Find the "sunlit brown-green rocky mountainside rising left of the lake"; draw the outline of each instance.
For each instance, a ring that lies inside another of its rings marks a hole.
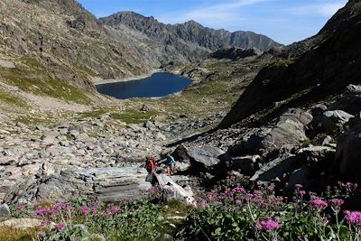
[[[91,77],[141,74],[158,64],[74,0],[1,0],[0,16],[3,59],[31,59],[45,75],[83,88],[91,88]]]

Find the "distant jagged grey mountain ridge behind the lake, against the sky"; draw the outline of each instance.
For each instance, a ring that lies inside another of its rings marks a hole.
[[[127,27],[144,33],[154,46],[158,56],[168,55],[169,60],[195,61],[212,51],[230,46],[239,48],[257,48],[267,51],[280,46],[270,38],[255,32],[227,32],[203,27],[189,21],[182,24],[164,24],[153,17],[144,17],[133,12],[119,12],[100,19],[102,23],[122,31]]]

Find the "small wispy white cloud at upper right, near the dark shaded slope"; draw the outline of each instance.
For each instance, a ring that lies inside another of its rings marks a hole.
[[[319,4],[310,4],[310,5],[300,5],[296,7],[289,8],[287,10],[288,14],[295,15],[320,15],[325,17],[330,17],[333,14],[338,12],[338,9],[343,7],[347,3],[347,0],[337,0],[327,3]]]

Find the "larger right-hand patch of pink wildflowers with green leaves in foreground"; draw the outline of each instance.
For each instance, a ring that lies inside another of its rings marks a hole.
[[[277,196],[273,184],[246,190],[241,184],[217,186],[202,199],[180,227],[180,239],[355,240],[361,234],[361,212],[340,211],[356,185],[342,184],[324,195],[293,187],[293,197]],[[211,221],[209,221],[211,220]],[[190,236],[191,234],[191,236]]]

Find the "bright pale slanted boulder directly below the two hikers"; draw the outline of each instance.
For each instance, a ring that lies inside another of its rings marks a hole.
[[[188,188],[188,190],[183,189],[171,180],[171,177],[164,174],[155,174],[158,184],[162,188],[162,200],[170,201],[171,199],[178,199],[185,204],[196,207],[197,202],[193,197],[193,192]]]

